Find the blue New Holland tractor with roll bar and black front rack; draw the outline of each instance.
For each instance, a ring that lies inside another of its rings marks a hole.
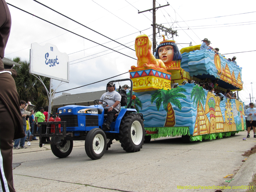
[[[102,129],[107,117],[104,115],[107,102],[94,100],[95,105],[91,106],[67,105],[58,109],[61,121],[36,123],[41,124],[40,134],[34,133],[40,138],[39,146],[51,144],[52,153],[59,158],[67,157],[71,153],[73,140],[85,140],[85,151],[91,159],[100,159],[114,139],[119,140],[127,152],[140,151],[145,137],[143,115],[137,113],[131,105],[132,98],[135,97],[132,96],[132,80],[120,79],[110,82],[121,81],[131,81],[131,99],[126,108],[119,107],[119,112],[110,124],[110,131]],[[50,137],[51,141],[46,141],[47,137]]]

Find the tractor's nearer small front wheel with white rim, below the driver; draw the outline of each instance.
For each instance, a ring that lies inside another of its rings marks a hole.
[[[107,138],[100,128],[93,128],[86,136],[84,148],[85,152],[92,160],[100,159],[107,147]]]

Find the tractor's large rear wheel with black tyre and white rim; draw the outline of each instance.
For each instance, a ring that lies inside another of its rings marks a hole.
[[[126,152],[140,151],[145,140],[145,129],[139,114],[130,113],[122,118],[118,137]]]

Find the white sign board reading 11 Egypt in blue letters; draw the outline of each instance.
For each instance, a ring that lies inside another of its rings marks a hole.
[[[60,81],[69,82],[68,54],[59,52],[52,44],[44,46],[32,43],[30,49],[29,72]]]

